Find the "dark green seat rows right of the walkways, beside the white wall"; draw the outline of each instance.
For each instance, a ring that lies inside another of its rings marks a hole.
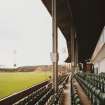
[[[95,74],[77,73],[75,78],[80,83],[86,94],[90,98],[92,105],[105,105],[105,92],[98,87],[100,85],[101,78],[96,78]],[[97,82],[97,83],[96,83]],[[98,84],[98,85],[96,85]],[[105,88],[105,87],[104,87]]]

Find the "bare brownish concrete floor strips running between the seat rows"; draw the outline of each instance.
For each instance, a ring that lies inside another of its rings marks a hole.
[[[82,105],[92,105],[91,101],[89,100],[79,83],[76,81],[76,79],[73,79],[73,83],[77,87],[78,95],[80,97]],[[64,105],[71,105],[71,74],[69,81],[66,84],[66,88],[64,89]]]

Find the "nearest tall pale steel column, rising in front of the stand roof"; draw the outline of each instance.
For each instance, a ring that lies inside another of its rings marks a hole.
[[[52,0],[52,62],[53,62],[53,88],[58,90],[58,33],[56,21],[56,0]]]

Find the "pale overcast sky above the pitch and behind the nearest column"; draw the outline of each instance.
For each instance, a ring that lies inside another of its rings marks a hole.
[[[51,26],[41,0],[0,0],[0,65],[51,64]],[[67,57],[65,50],[59,31],[59,63]]]

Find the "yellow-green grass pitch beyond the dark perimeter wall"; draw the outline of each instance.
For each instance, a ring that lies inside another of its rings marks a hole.
[[[49,79],[50,72],[0,73],[0,99]]]

